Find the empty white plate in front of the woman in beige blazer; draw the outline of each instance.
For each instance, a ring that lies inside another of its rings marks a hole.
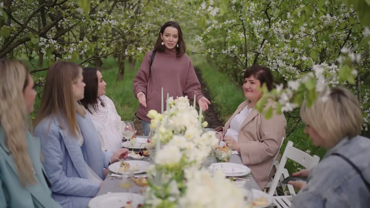
[[[208,168],[208,170],[211,172],[216,171],[217,169],[222,169],[226,177],[238,177],[248,175],[250,173],[250,169],[245,165],[240,165],[233,162],[215,162],[212,163]]]

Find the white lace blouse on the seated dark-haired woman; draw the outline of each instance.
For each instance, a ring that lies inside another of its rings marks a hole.
[[[104,102],[104,107],[101,105],[100,100]],[[120,149],[124,124],[121,121],[120,115],[117,114],[113,101],[103,95],[98,99],[97,111],[92,106],[89,106],[88,109],[92,112],[92,114],[90,112],[88,113],[90,114],[95,130],[98,132],[102,150],[115,152]]]

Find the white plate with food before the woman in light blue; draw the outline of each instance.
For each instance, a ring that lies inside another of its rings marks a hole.
[[[150,163],[146,161],[139,161],[139,160],[127,160],[127,161],[119,161],[115,162],[108,166],[108,169],[111,172],[123,174],[128,170],[132,170],[134,174],[146,172]]]

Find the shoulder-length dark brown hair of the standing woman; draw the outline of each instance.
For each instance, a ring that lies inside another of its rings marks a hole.
[[[168,21],[161,27],[161,30],[159,31],[159,34],[158,34],[157,42],[154,45],[154,50],[160,51],[160,52],[164,52],[166,50],[166,46],[162,45],[161,33],[163,34],[164,30],[167,27],[174,27],[179,31],[179,41],[177,42],[177,44],[179,44],[179,47],[175,46],[175,48],[177,51],[177,57],[180,57],[186,52],[186,46],[184,42],[184,37],[182,36],[181,27],[178,23],[174,21]]]

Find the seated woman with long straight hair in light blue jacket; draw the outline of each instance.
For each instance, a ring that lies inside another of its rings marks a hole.
[[[65,208],[87,207],[98,193],[103,168],[128,150],[101,150],[90,116],[78,101],[84,98],[82,68],[65,61],[47,72],[44,95],[34,125],[41,138],[44,167],[53,185],[52,197]]]

